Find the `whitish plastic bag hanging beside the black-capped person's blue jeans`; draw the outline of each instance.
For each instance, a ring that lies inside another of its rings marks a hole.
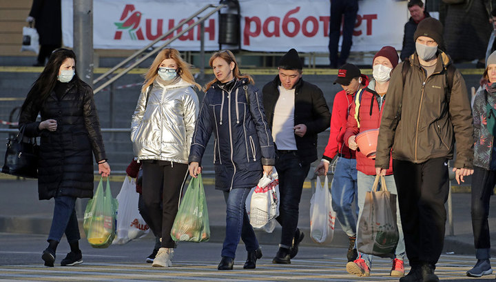
[[[316,192],[310,199],[310,237],[316,243],[331,243],[334,237],[336,213],[332,208],[332,197],[329,192],[329,179],[324,186],[317,178]]]

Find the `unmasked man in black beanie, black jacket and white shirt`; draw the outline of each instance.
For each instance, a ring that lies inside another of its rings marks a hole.
[[[317,159],[317,134],[331,122],[322,90],[303,81],[302,68],[298,52],[289,50],[279,61],[278,76],[262,90],[265,115],[276,143],[280,191],[280,215],[276,219],[282,234],[272,263],[291,263],[298,253],[304,236],[298,229],[304,179],[310,163]]]

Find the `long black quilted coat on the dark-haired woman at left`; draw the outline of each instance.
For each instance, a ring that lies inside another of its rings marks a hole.
[[[59,82],[60,83],[60,82]],[[59,99],[54,91],[41,105],[32,102],[21,111],[25,136],[41,137],[38,167],[39,199],[55,196],[93,197],[93,160],[107,159],[93,90],[74,79]],[[39,130],[40,121],[55,119],[56,131]]]

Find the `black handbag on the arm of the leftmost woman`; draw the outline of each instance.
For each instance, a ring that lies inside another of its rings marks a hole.
[[[38,178],[39,145],[36,138],[24,137],[22,126],[15,139],[8,138],[2,172],[17,177]]]

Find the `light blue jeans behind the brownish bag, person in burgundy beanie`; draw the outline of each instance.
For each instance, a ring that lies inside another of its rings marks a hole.
[[[404,237],[403,237],[403,228],[401,224],[401,217],[400,217],[400,208],[398,205],[398,199],[397,199],[397,190],[396,190],[396,183],[394,180],[393,175],[387,175],[384,177],[386,180],[386,186],[387,190],[391,192],[391,194],[396,195],[396,223],[398,227],[398,231],[400,232],[400,239],[398,240],[398,243],[396,245],[396,259],[404,260],[404,253],[405,253],[405,246],[404,246]],[[373,182],[375,180],[375,175],[367,175],[364,174],[363,172],[358,172],[358,208],[360,208],[360,216],[362,216],[362,209],[365,203],[365,195],[366,192],[372,191],[372,186]],[[381,185],[381,181],[379,181],[379,187]],[[359,252],[360,256],[362,259],[364,259],[366,265],[371,268],[371,263],[372,263],[372,255],[371,254],[363,254]]]

